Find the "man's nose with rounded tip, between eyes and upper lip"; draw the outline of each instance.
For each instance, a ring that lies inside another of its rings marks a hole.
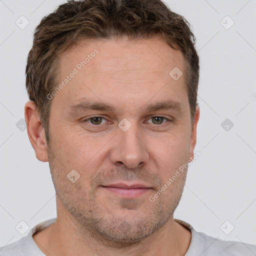
[[[140,167],[148,163],[148,150],[136,125],[133,124],[126,131],[118,130],[110,151],[110,161],[117,166],[126,165],[130,169]]]

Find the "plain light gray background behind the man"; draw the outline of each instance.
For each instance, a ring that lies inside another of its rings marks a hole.
[[[56,215],[48,163],[36,159],[22,118],[32,31],[62,2],[0,0],[0,246],[22,237],[15,229],[21,220],[31,228]],[[167,3],[191,23],[200,57],[195,151],[201,156],[189,167],[174,217],[224,240],[256,244],[256,1]],[[29,21],[24,29],[15,23],[21,15]]]

